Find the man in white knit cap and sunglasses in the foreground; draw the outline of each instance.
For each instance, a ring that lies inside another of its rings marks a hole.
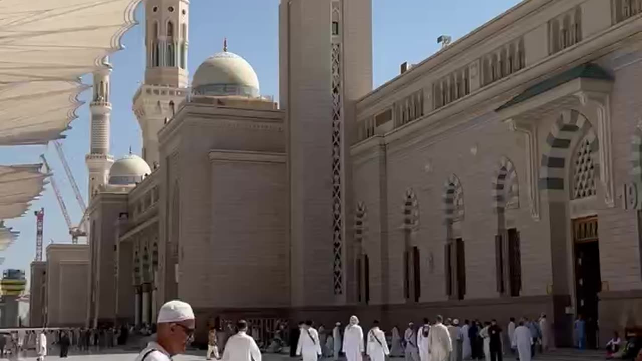
[[[169,301],[159,310],[156,340],[147,344],[136,361],[170,361],[182,353],[192,339],[195,328],[192,307],[182,301]]]

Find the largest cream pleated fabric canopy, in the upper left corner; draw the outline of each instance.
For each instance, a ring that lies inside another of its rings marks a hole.
[[[140,0],[0,1],[0,145],[63,137],[87,88],[135,24]]]

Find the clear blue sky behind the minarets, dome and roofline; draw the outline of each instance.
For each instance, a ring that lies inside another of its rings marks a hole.
[[[354,1],[354,0],[349,0]],[[374,86],[390,80],[399,72],[399,64],[417,63],[435,53],[439,35],[451,35],[456,40],[483,23],[496,17],[519,0],[372,0]],[[259,76],[261,93],[279,94],[279,0],[193,0],[190,5],[189,57],[190,76],[209,55],[220,51],[227,37],[229,51],[245,57]],[[137,19],[143,20],[141,8]],[[112,123],[111,153],[119,157],[132,147],[141,151],[141,130],[132,108],[132,96],[143,80],[143,28],[136,26],[126,33],[126,49],[112,56]],[[85,76],[86,83],[91,76]],[[87,100],[91,92],[82,94]],[[65,132],[63,140],[67,161],[80,186],[87,195],[87,168],[85,154],[89,149],[89,107],[78,110],[73,129]],[[82,215],[71,186],[65,177],[55,148],[51,146],[0,147],[0,164],[39,163],[39,155],[48,155],[71,218],[77,222]],[[86,199],[86,198],[85,198]],[[35,202],[26,216],[6,221],[21,232],[17,242],[4,252],[0,269],[19,268],[29,272],[29,263],[35,255],[34,209],[45,208],[44,247],[51,240],[69,243],[67,225],[60,212],[51,186]],[[83,241],[83,240],[81,240]]]

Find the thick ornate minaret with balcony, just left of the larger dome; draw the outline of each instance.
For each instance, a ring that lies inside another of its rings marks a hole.
[[[134,95],[143,159],[159,166],[158,132],[187,96],[188,0],[145,1],[145,81]]]

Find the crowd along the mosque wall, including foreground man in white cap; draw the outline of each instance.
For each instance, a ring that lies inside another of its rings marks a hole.
[[[170,301],[160,309],[157,324],[156,339],[141,352],[137,361],[165,361],[184,351],[193,337],[195,318],[189,304]],[[281,336],[285,327],[277,325],[275,339],[279,340],[273,340],[269,348],[283,344]],[[227,328],[232,330],[230,324]],[[207,360],[261,361],[261,348],[251,330],[246,321],[239,321],[234,334],[221,340],[220,330],[211,328],[205,357]],[[404,357],[406,361],[501,361],[507,350],[516,353],[521,361],[530,361],[536,349],[548,350],[549,336],[543,313],[537,320],[523,317],[516,322],[511,318],[506,331],[495,320],[483,323],[465,320],[460,324],[458,319],[438,315],[433,322],[424,319],[418,328],[411,322],[403,337],[396,326],[390,330],[390,337],[386,337],[378,321],[364,333],[358,317],[353,315],[345,328],[337,322],[331,331],[326,331],[323,325],[317,330],[312,321],[299,322],[298,328],[290,331],[289,346],[291,357],[303,361],[323,357],[362,361],[365,355],[371,361],[384,361],[386,356]]]

